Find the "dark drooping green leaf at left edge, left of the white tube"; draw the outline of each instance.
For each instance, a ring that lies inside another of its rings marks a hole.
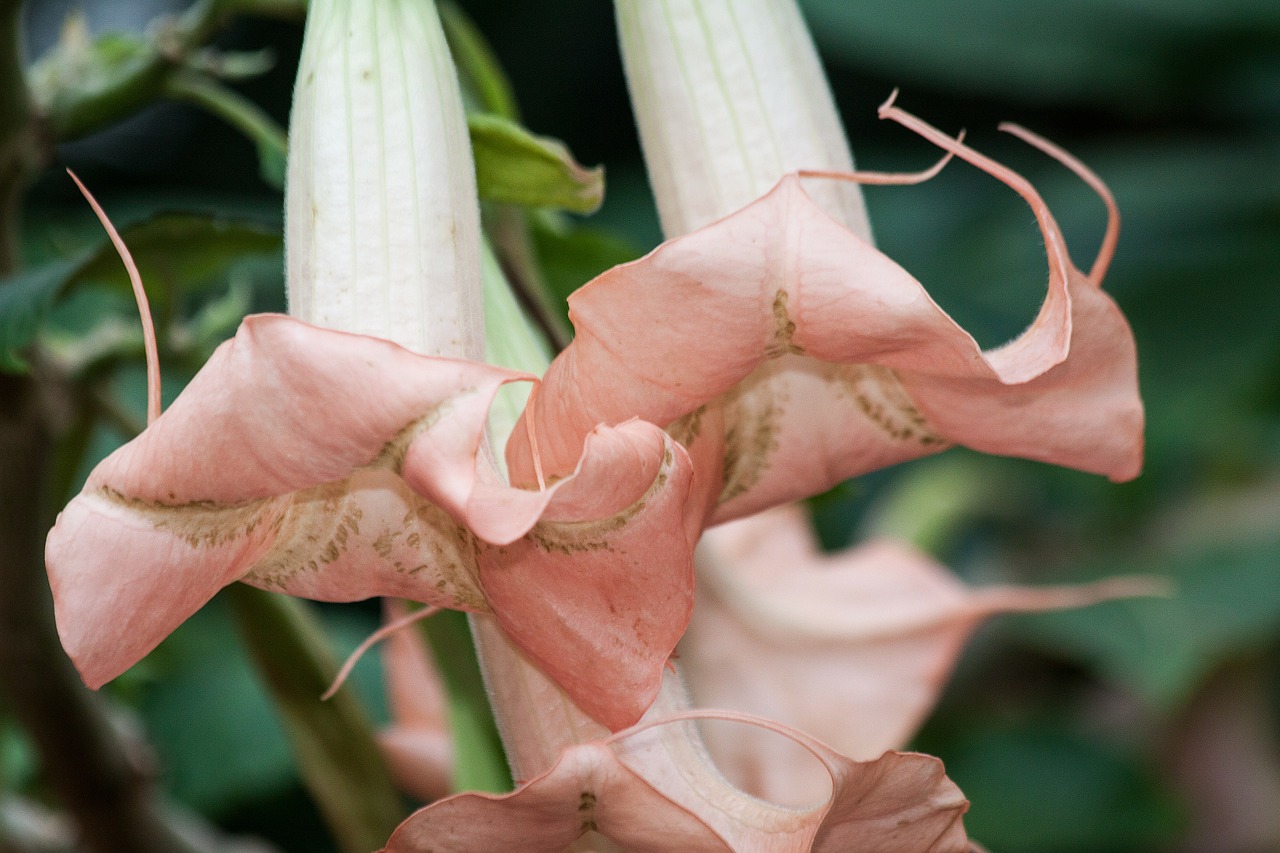
[[[276,229],[206,214],[157,214],[120,228],[148,293],[166,295],[216,279],[247,255],[278,252]],[[86,282],[128,289],[124,265],[105,233],[68,257],[0,280],[0,370],[26,370],[22,351],[40,332],[54,301]]]

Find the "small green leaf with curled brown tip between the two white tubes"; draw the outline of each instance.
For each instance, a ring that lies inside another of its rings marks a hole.
[[[586,169],[568,149],[492,113],[467,117],[481,199],[526,207],[591,213],[604,199],[604,170]]]

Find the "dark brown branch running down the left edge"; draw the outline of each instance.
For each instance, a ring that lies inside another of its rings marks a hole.
[[[40,156],[18,51],[20,3],[0,0],[0,278],[18,266],[18,213]],[[0,701],[31,735],[79,849],[197,853],[152,786],[150,757],[113,727],[67,660],[44,570],[49,421],[37,380],[0,374]]]

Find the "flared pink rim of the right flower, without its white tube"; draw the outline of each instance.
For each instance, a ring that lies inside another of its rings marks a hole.
[[[570,298],[576,338],[526,412],[547,470],[568,470],[596,423],[686,419],[673,426],[680,434],[687,419],[719,409],[722,432],[694,441],[722,446],[690,446],[695,459],[718,461],[699,467],[721,484],[717,521],[951,443],[1134,476],[1143,416],[1124,316],[1071,265],[1025,179],[923,123],[911,127],[1011,186],[1036,213],[1050,279],[1023,334],[983,352],[919,282],[790,175]],[[508,461],[530,470],[520,444]]]

